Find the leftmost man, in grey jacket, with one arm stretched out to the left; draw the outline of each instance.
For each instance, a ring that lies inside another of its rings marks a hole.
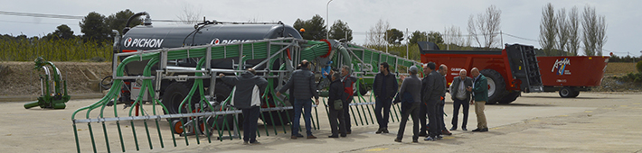
[[[260,114],[260,94],[265,91],[268,81],[260,76],[254,76],[256,71],[248,68],[241,76],[224,77],[219,74],[224,83],[236,85],[231,94],[231,105],[241,109],[243,116],[243,144],[260,144],[256,140],[257,121]]]

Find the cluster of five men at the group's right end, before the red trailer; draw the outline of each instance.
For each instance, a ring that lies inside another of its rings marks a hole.
[[[453,100],[454,113],[450,130],[458,129],[458,112],[461,106],[464,107],[464,121],[461,129],[467,130],[468,103],[470,103],[475,104],[477,114],[477,129],[473,131],[488,131],[484,114],[484,105],[488,99],[486,76],[481,75],[477,67],[471,69],[473,78],[467,76],[466,69],[461,69],[459,76],[453,78],[448,90],[446,81],[448,67],[446,65],[440,65],[439,70],[436,69],[436,64],[433,62],[423,65],[424,77],[421,80],[417,76],[419,68],[412,66],[409,70],[410,76],[401,76],[403,83],[399,94],[397,94],[398,98],[396,98],[396,101],[401,103],[402,115],[401,125],[394,141],[401,142],[403,139],[403,132],[409,116],[413,122],[413,142],[417,142],[420,136],[426,137],[424,140],[438,140],[443,138],[441,135],[451,135],[452,133],[446,129],[443,118],[445,97],[448,91]],[[379,99],[377,100],[379,101]],[[376,103],[380,103],[378,101]],[[424,126],[426,125],[426,116],[429,121],[428,127]]]

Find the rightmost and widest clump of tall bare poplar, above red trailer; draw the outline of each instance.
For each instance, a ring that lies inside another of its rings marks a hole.
[[[595,7],[584,7],[581,25],[586,56],[602,56],[602,47],[607,41],[605,20],[604,15],[595,13]]]

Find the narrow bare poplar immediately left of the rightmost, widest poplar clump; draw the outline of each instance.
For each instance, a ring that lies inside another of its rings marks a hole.
[[[568,44],[566,45],[566,51],[568,51],[571,56],[577,56],[578,50],[580,49],[580,34],[578,34],[580,23],[578,20],[577,7],[573,7],[571,9],[567,26],[569,31],[569,40]]]

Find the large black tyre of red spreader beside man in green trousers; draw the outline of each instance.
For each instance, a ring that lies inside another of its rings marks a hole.
[[[493,69],[483,69],[479,73],[486,76],[488,82],[488,101],[486,104],[499,102],[506,94],[504,77]]]

